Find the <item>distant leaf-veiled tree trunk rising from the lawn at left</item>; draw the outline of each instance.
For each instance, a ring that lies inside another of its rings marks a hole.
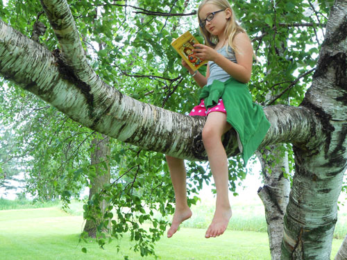
[[[92,150],[91,154],[91,165],[95,168],[96,176],[90,180],[92,188],[90,188],[89,200],[93,199],[96,193],[99,193],[105,184],[110,183],[110,164],[108,162],[108,157],[110,156],[110,148],[108,146],[109,137],[102,135],[102,139],[94,138],[92,140]],[[105,168],[106,167],[106,168]],[[96,237],[97,227],[103,221],[103,215],[105,214],[105,209],[108,203],[105,200],[99,201],[99,205],[94,205],[92,211],[88,213],[88,218],[84,232],[87,232],[90,237]],[[100,208],[100,211],[97,209]]]

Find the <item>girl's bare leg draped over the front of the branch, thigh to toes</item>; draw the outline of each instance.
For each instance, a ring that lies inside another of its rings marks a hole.
[[[232,216],[228,197],[228,157],[221,142],[222,135],[230,130],[231,126],[226,122],[226,114],[212,112],[203,128],[203,144],[208,153],[208,161],[217,189],[216,211],[206,238],[216,237],[226,230]]]

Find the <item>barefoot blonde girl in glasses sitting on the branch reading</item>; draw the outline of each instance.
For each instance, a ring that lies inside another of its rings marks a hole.
[[[201,103],[189,115],[207,116],[202,137],[217,189],[216,210],[205,234],[210,238],[223,234],[232,216],[228,198],[228,157],[221,142],[222,135],[231,127],[235,128],[246,165],[266,135],[269,121],[248,92],[246,83],[251,78],[253,48],[246,32],[235,21],[230,3],[204,0],[198,8],[198,22],[206,45],[194,45],[194,55],[209,61],[206,76],[192,71],[184,61],[182,64],[203,87],[199,96]],[[192,216],[192,211],[187,205],[183,159],[167,156],[167,163],[176,198],[174,218],[167,232],[171,237],[180,223]]]

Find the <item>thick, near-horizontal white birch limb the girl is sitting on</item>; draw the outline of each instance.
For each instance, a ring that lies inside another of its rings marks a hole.
[[[31,66],[23,66],[28,62]],[[205,118],[140,103],[105,84],[90,85],[90,92],[85,93],[80,81],[72,77],[71,67],[61,62],[49,50],[0,21],[2,76],[97,132],[146,150],[191,160],[206,159],[201,142]],[[266,107],[264,112],[271,128],[261,147],[287,141],[304,144],[312,139],[312,131],[318,136],[321,131],[310,109],[278,105]],[[233,130],[225,135],[224,144],[228,155],[239,152]]]

